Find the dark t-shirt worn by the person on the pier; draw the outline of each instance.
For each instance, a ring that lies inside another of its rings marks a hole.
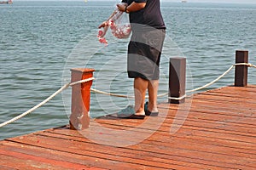
[[[122,3],[146,3],[145,8],[129,14],[131,24],[142,24],[158,29],[166,29],[160,12],[160,0],[122,0]]]

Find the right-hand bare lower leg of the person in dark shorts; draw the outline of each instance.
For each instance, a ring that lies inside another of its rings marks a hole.
[[[157,109],[157,91],[159,80],[151,80],[148,82],[148,111],[158,112]]]

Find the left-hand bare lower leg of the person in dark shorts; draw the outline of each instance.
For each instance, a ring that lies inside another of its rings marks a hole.
[[[145,96],[148,88],[148,80],[141,77],[134,78],[135,112],[136,115],[144,115]]]

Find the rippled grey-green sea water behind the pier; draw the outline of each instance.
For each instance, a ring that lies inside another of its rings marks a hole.
[[[128,39],[108,32],[109,45],[97,41],[97,26],[115,2],[15,2],[0,6],[0,122],[20,115],[70,79],[70,69],[96,69],[93,88],[132,95],[126,76]],[[211,82],[235,62],[236,49],[249,50],[256,64],[256,5],[162,3],[166,42],[161,59],[160,94],[167,92],[168,60],[185,56],[187,88]],[[234,71],[209,88],[234,82]],[[256,69],[249,69],[256,84]],[[209,89],[207,88],[207,89]],[[205,89],[205,90],[207,90]],[[68,123],[70,88],[32,114],[0,128],[0,139]],[[160,98],[159,101],[166,101]],[[90,114],[104,115],[133,104],[91,94]]]

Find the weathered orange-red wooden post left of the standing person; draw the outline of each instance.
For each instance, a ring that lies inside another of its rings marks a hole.
[[[93,77],[93,69],[71,69],[71,82]],[[83,130],[90,124],[90,87],[92,81],[83,82],[72,87],[70,129]]]

